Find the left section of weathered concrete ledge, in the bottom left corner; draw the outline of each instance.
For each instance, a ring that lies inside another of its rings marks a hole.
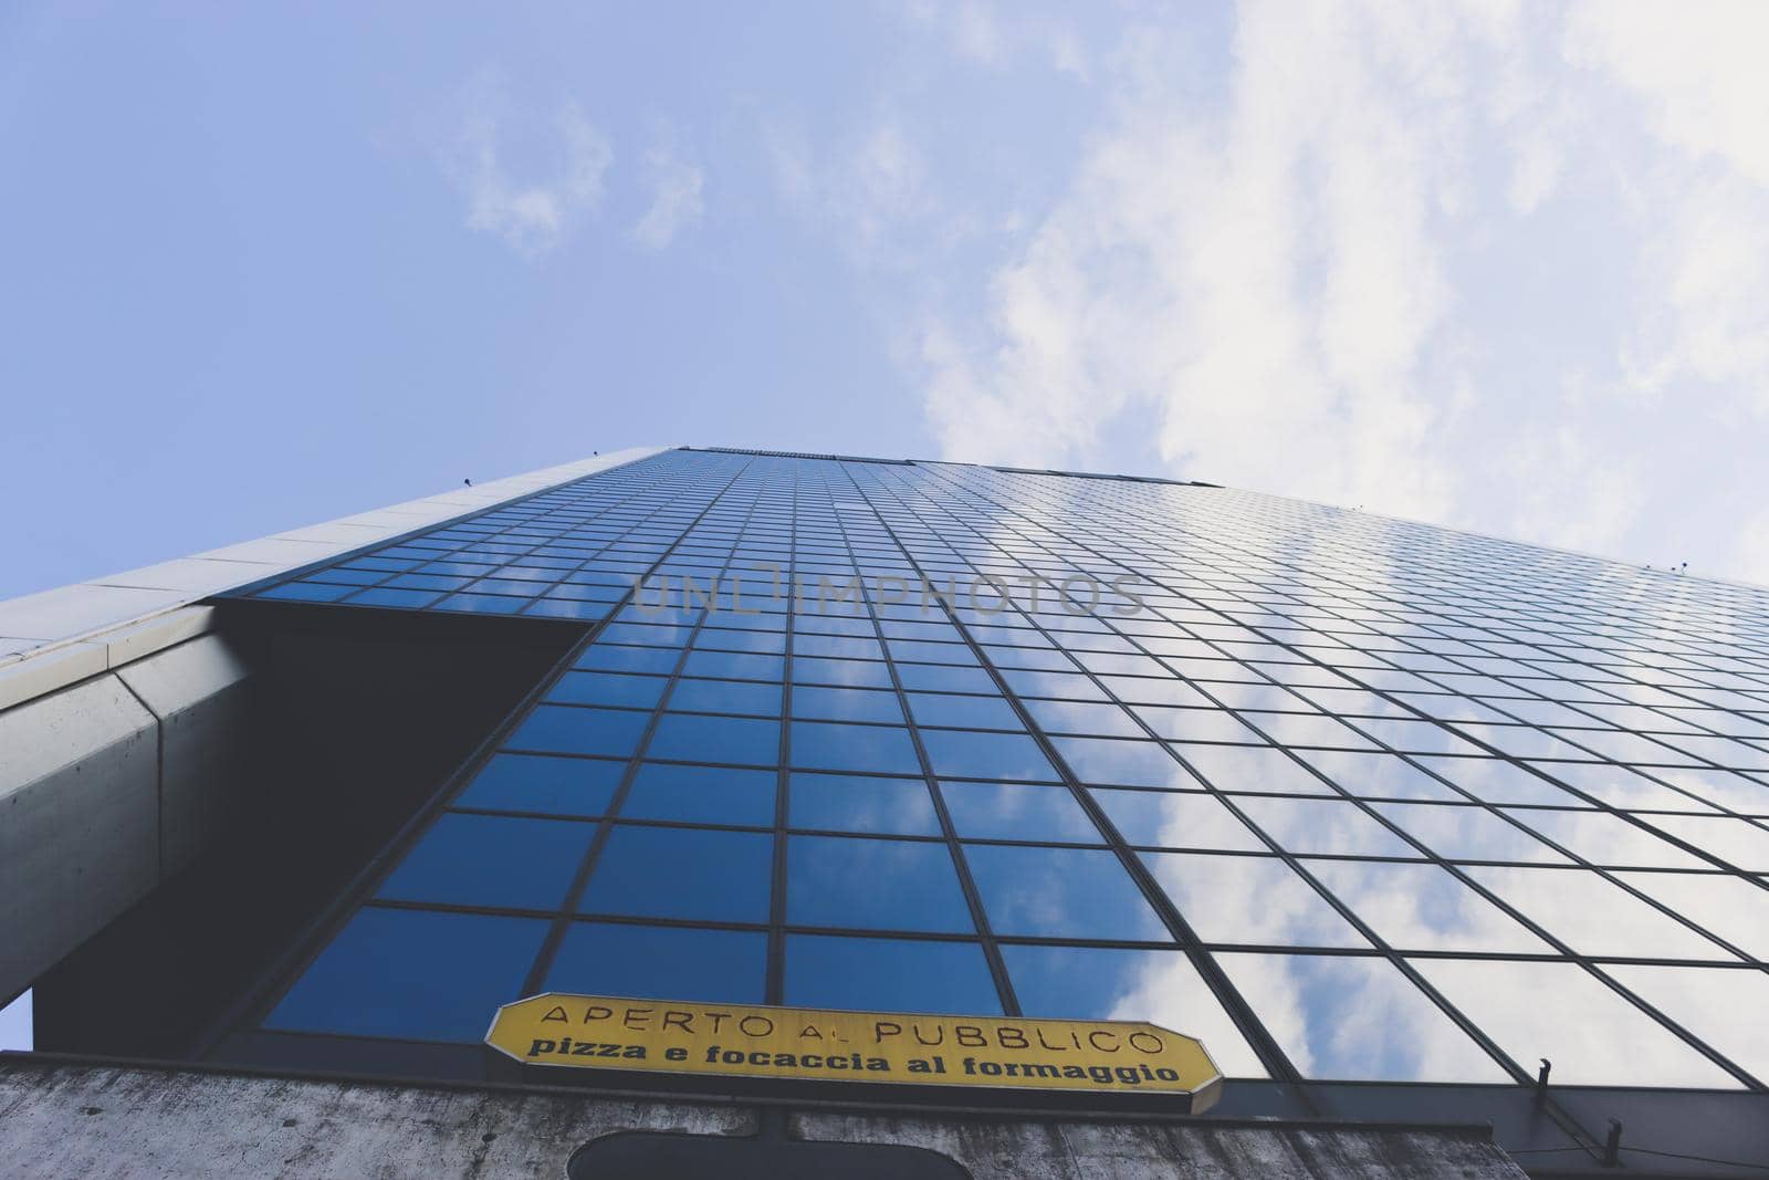
[[[617,1130],[754,1134],[747,1109],[290,1081],[0,1054],[0,1176],[564,1176]]]

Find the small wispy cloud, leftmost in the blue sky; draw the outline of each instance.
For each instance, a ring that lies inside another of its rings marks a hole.
[[[554,108],[543,127],[515,122],[499,76],[481,73],[465,90],[460,134],[446,165],[467,202],[467,226],[532,258],[554,249],[573,221],[596,207],[614,150],[573,101]],[[513,136],[534,140],[525,154],[536,159],[520,170],[527,173],[522,179],[508,159]]]

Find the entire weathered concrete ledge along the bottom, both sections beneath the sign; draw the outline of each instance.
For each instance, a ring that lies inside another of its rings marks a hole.
[[[563,1178],[619,1130],[754,1136],[755,1107],[594,1093],[297,1081],[0,1054],[0,1176]],[[1474,1129],[800,1109],[789,1138],[939,1152],[976,1180],[1516,1180]]]

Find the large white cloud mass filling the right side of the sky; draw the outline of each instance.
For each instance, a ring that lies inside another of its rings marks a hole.
[[[1765,27],[1249,0],[1206,55],[1183,19],[1129,28],[1067,189],[927,301],[941,451],[1097,467],[1129,437],[1182,476],[1691,552],[1650,533],[1679,451],[1746,497],[1769,446]],[[1201,57],[1214,87],[1173,67]]]

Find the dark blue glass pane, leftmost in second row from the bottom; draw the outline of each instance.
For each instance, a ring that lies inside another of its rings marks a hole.
[[[596,824],[448,812],[412,846],[377,897],[557,909]]]

